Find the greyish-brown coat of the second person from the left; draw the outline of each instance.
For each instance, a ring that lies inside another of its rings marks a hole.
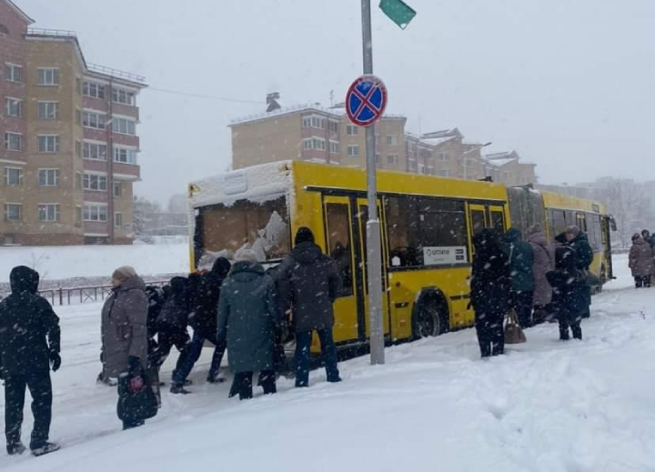
[[[146,284],[139,276],[128,278],[112,289],[102,310],[102,359],[106,377],[127,372],[128,357],[147,363]]]

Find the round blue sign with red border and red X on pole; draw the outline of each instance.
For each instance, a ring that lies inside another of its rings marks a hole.
[[[357,126],[371,126],[387,107],[387,87],[375,75],[362,75],[348,89],[346,112]]]

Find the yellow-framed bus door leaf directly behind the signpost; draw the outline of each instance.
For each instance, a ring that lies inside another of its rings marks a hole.
[[[364,293],[364,313],[366,336],[370,336],[370,315],[368,312],[368,266],[367,266],[367,221],[368,221],[368,201],[364,198],[358,198],[358,228],[360,238],[359,257],[362,263],[361,273],[362,286]],[[384,222],[382,220],[382,208],[378,201],[378,218],[380,219],[380,243],[382,246],[382,319],[384,320],[384,333],[389,334],[389,309],[388,309],[388,273],[387,263],[388,260],[388,244],[386,241],[386,234],[384,231]]]

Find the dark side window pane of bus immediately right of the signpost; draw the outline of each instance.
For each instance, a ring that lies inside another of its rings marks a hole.
[[[385,198],[391,267],[420,266],[417,200],[408,196]]]

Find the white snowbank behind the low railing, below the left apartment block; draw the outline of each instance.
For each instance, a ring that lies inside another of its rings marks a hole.
[[[0,246],[0,283],[14,266],[38,270],[41,278],[111,276],[118,266],[134,266],[139,274],[156,276],[188,272],[185,243],[135,246]]]

